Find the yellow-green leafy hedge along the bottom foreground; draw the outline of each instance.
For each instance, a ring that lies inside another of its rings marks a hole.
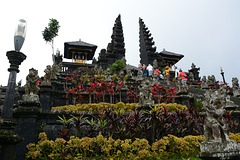
[[[98,135],[94,138],[71,136],[68,141],[47,139],[39,134],[39,141],[27,145],[26,159],[170,159],[194,157],[200,152],[203,136],[178,138],[168,135],[149,145],[146,139],[114,140]]]

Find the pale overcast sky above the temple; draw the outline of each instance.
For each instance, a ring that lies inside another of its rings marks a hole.
[[[13,36],[18,19],[27,21],[26,39],[21,49],[27,59],[20,66],[17,81],[25,79],[30,68],[39,76],[52,65],[52,50],[42,31],[49,19],[59,21],[55,50],[64,53],[64,42],[82,41],[98,46],[95,56],[111,40],[112,28],[121,14],[128,64],[139,64],[139,24],[141,17],[152,33],[160,52],[183,54],[177,63],[183,71],[192,62],[200,76],[215,75],[222,81],[240,79],[240,1],[239,0],[7,0],[0,2],[0,84],[7,85],[9,72],[6,52],[14,50]]]

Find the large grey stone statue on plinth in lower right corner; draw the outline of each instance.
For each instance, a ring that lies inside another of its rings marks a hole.
[[[226,100],[222,93],[225,89],[226,87],[223,86],[220,90],[207,90],[205,93],[203,105],[207,116],[204,121],[205,142],[200,144],[200,158],[239,159],[240,157],[240,143],[229,139],[228,124],[223,117]]]

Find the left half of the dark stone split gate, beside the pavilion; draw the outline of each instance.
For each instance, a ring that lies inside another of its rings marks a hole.
[[[101,53],[99,53],[97,64],[101,65],[103,69],[106,69],[116,60],[122,59],[123,57],[125,57],[125,43],[121,15],[119,14],[113,26],[111,42],[108,43],[106,50],[102,49]]]

